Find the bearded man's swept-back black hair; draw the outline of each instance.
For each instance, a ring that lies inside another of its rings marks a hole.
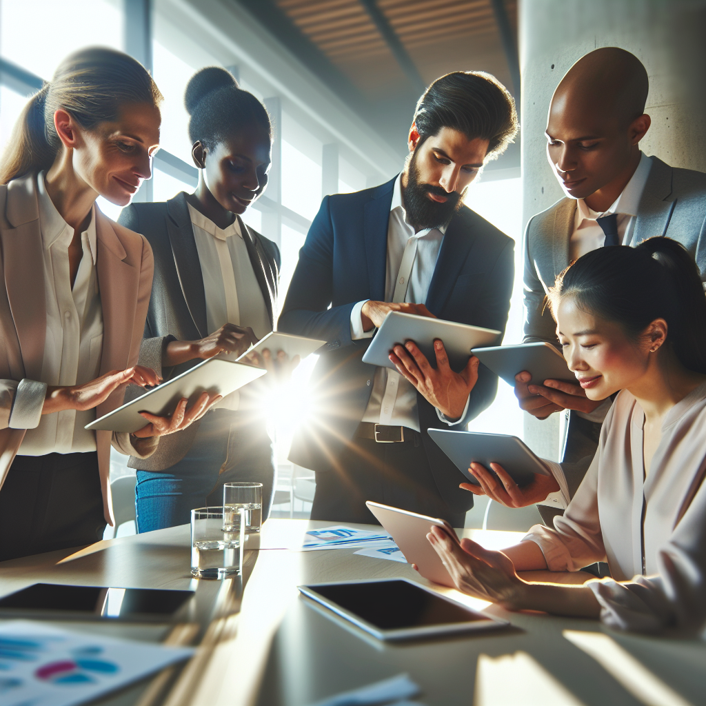
[[[453,128],[470,140],[489,140],[486,162],[505,152],[518,128],[513,97],[484,71],[454,71],[437,78],[417,102],[414,124],[422,140],[441,128]]]

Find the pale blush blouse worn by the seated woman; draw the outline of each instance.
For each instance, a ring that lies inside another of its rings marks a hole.
[[[706,383],[666,414],[646,477],[644,424],[623,390],[563,517],[523,541],[539,544],[552,571],[608,562],[612,578],[587,583],[604,623],[698,631],[706,623]]]

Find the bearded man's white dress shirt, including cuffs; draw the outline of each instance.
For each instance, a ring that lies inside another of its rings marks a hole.
[[[407,212],[402,203],[402,174],[397,177],[390,205],[388,222],[388,253],[385,274],[385,301],[408,301],[424,304],[429,291],[431,277],[441,243],[444,228],[426,228],[418,233],[407,220]],[[369,301],[369,300],[365,300]],[[351,311],[351,337],[353,340],[370,338],[375,328],[365,332],[361,321],[361,310],[365,301],[359,301]],[[468,409],[468,400],[463,414]],[[441,421],[455,424],[437,409]],[[417,390],[400,373],[388,368],[376,368],[373,376],[373,390],[361,421],[391,426],[407,426],[419,431],[417,411]]]

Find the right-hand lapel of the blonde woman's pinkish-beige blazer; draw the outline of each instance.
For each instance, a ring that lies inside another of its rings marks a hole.
[[[103,351],[100,374],[124,370],[130,359],[137,316],[140,270],[125,262],[126,252],[109,220],[95,209],[96,268],[103,312]],[[100,417],[118,406],[109,397],[96,412]]]

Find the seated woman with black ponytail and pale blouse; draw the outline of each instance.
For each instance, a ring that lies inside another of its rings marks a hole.
[[[601,618],[625,630],[701,630],[706,622],[706,298],[675,241],[587,253],[549,302],[564,356],[592,400],[621,390],[597,453],[554,529],[486,551],[433,528],[457,588],[510,610]],[[509,491],[512,481],[501,467]],[[486,469],[490,491],[499,485]],[[508,482],[509,481],[509,482]],[[554,489],[557,489],[558,485]],[[610,579],[530,584],[517,571],[576,571],[607,561]]]

